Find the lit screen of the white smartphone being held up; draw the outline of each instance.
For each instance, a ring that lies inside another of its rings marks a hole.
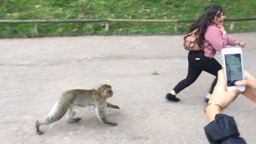
[[[227,85],[235,86],[235,82],[243,80],[241,54],[225,55]]]

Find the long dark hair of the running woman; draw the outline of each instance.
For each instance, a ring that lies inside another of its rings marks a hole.
[[[197,21],[191,25],[190,32],[199,27],[199,38],[197,43],[199,46],[203,46],[204,34],[207,27],[211,24],[211,21],[214,19],[217,12],[220,11],[224,13],[222,7],[219,5],[209,6],[205,8],[205,12],[197,19]]]

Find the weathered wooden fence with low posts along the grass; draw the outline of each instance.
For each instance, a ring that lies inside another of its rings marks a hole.
[[[225,21],[231,21],[229,29],[232,31],[234,28],[235,21],[251,21],[256,20],[256,17],[251,18],[227,18]],[[81,20],[0,20],[0,24],[10,23],[34,23],[34,32],[38,35],[38,24],[39,23],[96,23],[105,22],[105,30],[108,32],[110,22],[121,22],[121,23],[175,23],[174,31],[178,32],[179,23],[192,23],[196,20],[143,20],[143,19],[81,19]]]

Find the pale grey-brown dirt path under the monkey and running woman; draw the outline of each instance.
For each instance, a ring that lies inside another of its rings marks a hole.
[[[256,75],[256,32],[229,34],[246,41],[244,67]],[[187,74],[183,35],[86,36],[0,39],[0,139],[2,144],[207,144],[205,97],[214,76],[203,72],[178,97],[165,100]],[[230,46],[229,46],[230,47]],[[220,54],[216,59],[220,62]],[[158,75],[152,75],[156,71]],[[78,112],[79,123],[64,118],[41,126],[61,92],[112,85],[105,127],[94,111]],[[235,117],[241,136],[255,143],[256,104],[240,95],[224,111]]]

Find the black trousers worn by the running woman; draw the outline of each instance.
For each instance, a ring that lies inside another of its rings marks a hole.
[[[217,83],[217,73],[222,66],[215,58],[209,59],[208,57],[204,56],[203,50],[197,52],[189,52],[188,53],[188,71],[187,71],[187,78],[181,80],[176,87],[174,87],[174,91],[178,94],[180,91],[185,89],[186,87],[190,86],[194,81],[197,80],[199,75],[202,71],[206,71],[212,75],[215,75],[216,78],[212,83],[212,86],[209,90],[209,93],[213,93],[213,89]],[[203,84],[202,84],[203,85]],[[200,87],[200,86],[199,86]]]

